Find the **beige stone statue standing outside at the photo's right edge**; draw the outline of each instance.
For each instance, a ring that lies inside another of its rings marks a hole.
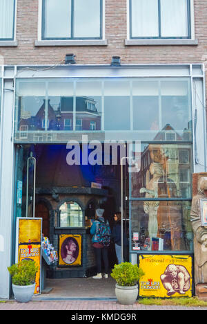
[[[207,286],[207,227],[201,226],[200,199],[206,198],[207,177],[198,181],[197,195],[193,197],[190,220],[194,232],[195,285],[206,283]]]

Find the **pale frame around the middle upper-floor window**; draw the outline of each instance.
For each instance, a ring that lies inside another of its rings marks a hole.
[[[103,1],[100,1],[100,28],[99,28],[99,37],[73,37],[74,33],[74,0],[71,0],[71,37],[45,37],[45,3],[46,0],[41,0],[41,40],[42,41],[81,41],[81,40],[101,40],[103,39]]]

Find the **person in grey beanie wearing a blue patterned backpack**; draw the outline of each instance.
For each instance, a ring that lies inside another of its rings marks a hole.
[[[93,276],[94,279],[101,279],[101,260],[103,258],[104,274],[103,278],[108,278],[108,246],[110,244],[110,226],[108,221],[105,221],[103,217],[104,209],[98,208],[95,213],[95,220],[91,219],[90,234],[92,234],[92,246],[95,251],[97,275]],[[106,228],[105,235],[102,231],[100,237],[99,226],[103,224],[103,228]],[[104,237],[105,236],[105,237]],[[103,243],[104,242],[104,243]]]

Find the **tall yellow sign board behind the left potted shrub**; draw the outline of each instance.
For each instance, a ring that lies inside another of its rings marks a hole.
[[[34,294],[40,294],[41,287],[41,222],[41,218],[17,218],[16,262],[33,260],[39,267]]]

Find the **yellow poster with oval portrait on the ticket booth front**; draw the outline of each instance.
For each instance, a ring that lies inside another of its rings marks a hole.
[[[59,265],[81,265],[81,235],[59,235]]]

